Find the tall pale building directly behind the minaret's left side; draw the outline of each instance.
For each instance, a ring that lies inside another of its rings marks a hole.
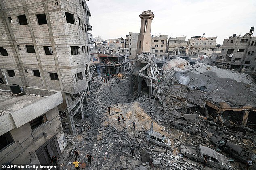
[[[138,42],[138,33],[131,33],[126,35],[125,38],[125,47],[129,49],[130,60],[134,60],[137,55],[137,42]]]

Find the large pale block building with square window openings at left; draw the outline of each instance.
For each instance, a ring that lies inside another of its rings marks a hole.
[[[17,0],[1,1],[0,6],[2,79],[6,84],[60,90],[64,102],[59,110],[67,111],[75,135],[73,115],[83,118],[90,88],[87,33],[92,27],[86,1]]]

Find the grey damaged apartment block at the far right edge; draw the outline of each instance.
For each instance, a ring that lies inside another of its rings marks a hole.
[[[251,73],[256,67],[256,37],[252,37],[254,27],[244,36],[230,36],[224,39],[220,60],[228,68]]]

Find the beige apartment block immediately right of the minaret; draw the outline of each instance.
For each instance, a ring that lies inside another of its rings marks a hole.
[[[152,36],[152,53],[156,58],[164,58],[166,53],[167,35],[153,35]]]

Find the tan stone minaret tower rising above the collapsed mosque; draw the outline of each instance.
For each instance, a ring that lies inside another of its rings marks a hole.
[[[141,18],[141,31],[138,34],[138,43],[137,43],[137,54],[142,52],[150,52],[151,47],[151,23],[155,15],[151,10],[144,11],[140,14]]]

